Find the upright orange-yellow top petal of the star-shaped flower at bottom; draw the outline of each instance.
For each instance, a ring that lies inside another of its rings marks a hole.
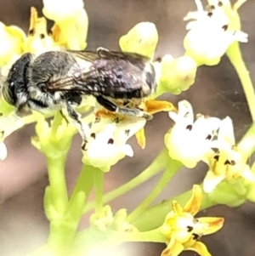
[[[192,195],[190,200],[184,206],[184,212],[190,213],[193,216],[199,212],[201,208],[202,193],[199,185],[193,185]]]

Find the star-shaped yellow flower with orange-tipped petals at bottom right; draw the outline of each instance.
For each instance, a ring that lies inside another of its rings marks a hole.
[[[224,224],[223,218],[195,218],[201,207],[201,188],[193,186],[190,200],[182,208],[178,202],[172,202],[173,211],[167,214],[161,226],[161,232],[167,238],[167,248],[161,256],[178,256],[185,250],[195,251],[201,256],[211,255],[205,244],[200,242],[201,236],[210,235],[220,230]]]

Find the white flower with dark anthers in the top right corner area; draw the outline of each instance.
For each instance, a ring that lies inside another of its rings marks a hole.
[[[216,65],[231,43],[246,43],[248,36],[231,28],[223,7],[214,5],[206,12],[200,0],[195,3],[197,11],[184,17],[184,20],[193,20],[186,26],[189,32],[184,38],[184,48],[199,64]]]

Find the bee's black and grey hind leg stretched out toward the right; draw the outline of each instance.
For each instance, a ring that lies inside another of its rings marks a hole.
[[[105,109],[107,109],[108,111],[116,112],[118,114],[130,116],[130,117],[143,117],[147,120],[152,119],[152,116],[149,113],[146,113],[145,111],[141,111],[136,108],[119,107],[113,102],[111,102],[110,100],[107,100],[102,96],[98,96],[96,97],[96,99],[99,102],[99,104],[104,106]]]

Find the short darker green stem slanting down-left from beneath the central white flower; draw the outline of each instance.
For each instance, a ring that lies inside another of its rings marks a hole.
[[[82,170],[77,179],[77,184],[71,193],[69,205],[72,205],[77,193],[80,191],[83,191],[88,199],[88,195],[94,185],[94,172],[91,168],[91,166],[85,164],[82,166]]]

